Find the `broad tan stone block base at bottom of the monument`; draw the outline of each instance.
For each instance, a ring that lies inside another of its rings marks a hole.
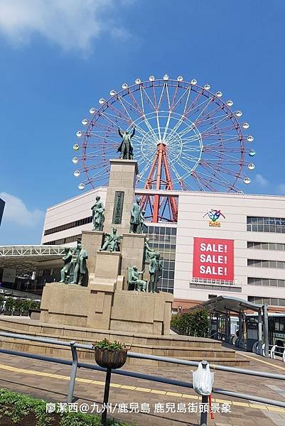
[[[88,287],[48,283],[43,289],[41,322],[118,332],[169,334],[171,293],[117,290],[109,278]]]

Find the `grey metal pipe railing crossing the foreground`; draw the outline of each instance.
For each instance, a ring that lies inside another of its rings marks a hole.
[[[45,339],[43,337],[35,337],[30,336],[26,334],[15,334],[15,333],[8,333],[8,332],[0,332],[0,337],[7,337],[12,339],[22,339],[22,340],[28,340],[32,342],[42,342],[45,344],[53,344],[58,346],[65,346],[69,347],[72,355],[72,361],[69,361],[68,359],[60,359],[60,358],[54,358],[50,356],[43,356],[38,354],[31,354],[27,352],[21,352],[21,351],[13,351],[10,349],[0,349],[0,354],[9,354],[14,356],[22,356],[24,358],[28,359],[38,359],[40,361],[48,361],[53,362],[57,364],[63,364],[71,366],[70,370],[70,381],[68,384],[68,393],[67,393],[67,402],[72,403],[73,400],[73,394],[74,394],[74,388],[75,388],[75,379],[77,376],[77,368],[87,368],[93,371],[106,371],[106,368],[101,368],[100,366],[94,365],[94,364],[86,364],[78,361],[77,356],[77,349],[85,349],[90,350],[94,352],[94,349],[92,349],[91,345],[88,344],[78,344],[76,342],[63,342],[61,340],[54,340],[54,339]],[[170,358],[167,356],[156,356],[156,355],[149,355],[149,354],[139,354],[136,352],[128,352],[127,356],[129,358],[134,359],[148,359],[153,361],[163,361],[171,364],[180,364],[183,366],[198,366],[198,361],[187,361],[183,359],[177,359],[177,358]],[[285,375],[284,374],[276,374],[276,373],[267,373],[264,371],[254,371],[254,370],[247,370],[245,368],[237,368],[237,367],[228,367],[228,366],[220,366],[216,364],[209,364],[210,368],[215,369],[216,371],[227,371],[230,373],[239,373],[239,374],[245,374],[249,376],[257,376],[262,378],[271,378],[271,379],[277,379],[277,380],[283,380],[285,381]],[[181,386],[183,388],[193,388],[193,383],[185,382],[185,381],[178,381],[170,378],[165,378],[161,376],[152,376],[149,374],[142,374],[142,373],[135,373],[134,371],[123,371],[123,370],[112,370],[112,373],[118,374],[119,376],[127,376],[127,377],[133,377],[133,378],[139,378],[141,380],[148,380],[148,381],[154,381],[157,383],[166,383],[171,386]],[[263,404],[270,404],[270,405],[276,405],[277,407],[285,408],[285,402],[284,401],[278,401],[278,400],[271,400],[269,398],[262,398],[257,395],[249,395],[246,393],[238,393],[233,391],[227,391],[222,388],[213,388],[213,393],[217,393],[219,395],[227,395],[233,398],[240,398],[243,400],[250,400],[257,403],[263,403]],[[204,426],[207,424],[207,413],[201,413],[200,418],[200,425]]]

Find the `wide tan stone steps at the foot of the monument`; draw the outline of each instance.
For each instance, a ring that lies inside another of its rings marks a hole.
[[[156,339],[152,336],[148,339],[146,335],[134,336],[133,334],[121,332],[106,333],[102,330],[91,331],[91,329],[87,333],[84,333],[82,332],[83,329],[81,327],[71,327],[71,329],[67,329],[65,327],[65,329],[60,329],[60,326],[50,327],[50,324],[45,325],[37,321],[24,321],[23,319],[0,319],[0,330],[4,332],[17,332],[19,334],[44,337],[46,339],[63,340],[65,342],[75,340],[76,342],[82,344],[92,344],[92,342],[95,342],[96,340],[101,340],[104,339],[104,337],[107,337],[107,339],[111,339],[112,341],[119,340],[121,342],[125,342],[131,346],[132,352],[138,352],[141,354],[168,356],[171,358],[188,359],[193,361],[201,361],[203,359],[207,359],[207,361],[212,364],[222,364],[231,366],[244,365],[245,363],[248,364],[247,360],[238,359],[237,354],[234,350],[223,348],[220,342],[213,341],[211,339],[199,339],[197,337],[195,337],[194,339],[188,337],[186,337],[185,339],[185,337],[183,337],[182,340],[173,339],[171,341],[171,337],[168,336],[163,336],[162,339]],[[127,342],[128,340],[129,342]],[[154,342],[156,344],[154,344]],[[165,342],[167,342],[167,344],[165,344]],[[183,346],[181,345],[182,343]],[[0,337],[0,347],[3,349],[11,349],[14,351],[23,351],[30,352],[32,354],[43,354],[45,356],[55,356],[59,358],[70,359],[70,349],[69,347],[65,346]],[[84,359],[86,361],[94,360],[94,354],[92,351],[80,349],[78,352],[80,359]],[[167,364],[168,366],[170,366],[171,364],[173,365],[173,363],[141,359],[128,359],[128,362],[131,364],[149,364],[151,366],[162,366],[165,364]]]

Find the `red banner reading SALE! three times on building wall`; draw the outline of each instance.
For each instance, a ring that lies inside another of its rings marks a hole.
[[[193,278],[234,280],[234,241],[194,237]]]

